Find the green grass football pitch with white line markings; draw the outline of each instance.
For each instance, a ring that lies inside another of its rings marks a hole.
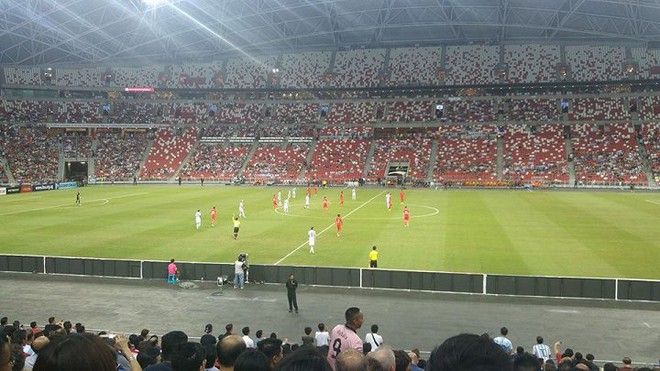
[[[304,209],[298,187],[290,213],[273,211],[286,187],[93,186],[0,197],[0,253],[253,264],[367,267],[372,245],[382,268],[522,275],[660,279],[660,194],[521,190],[406,190],[411,226],[382,188],[319,189]],[[321,198],[330,200],[324,213]],[[231,216],[243,199],[238,240]],[[215,205],[218,225],[210,226]],[[194,214],[202,211],[202,228]],[[336,236],[334,217],[344,230]],[[309,254],[307,231],[317,231]]]

